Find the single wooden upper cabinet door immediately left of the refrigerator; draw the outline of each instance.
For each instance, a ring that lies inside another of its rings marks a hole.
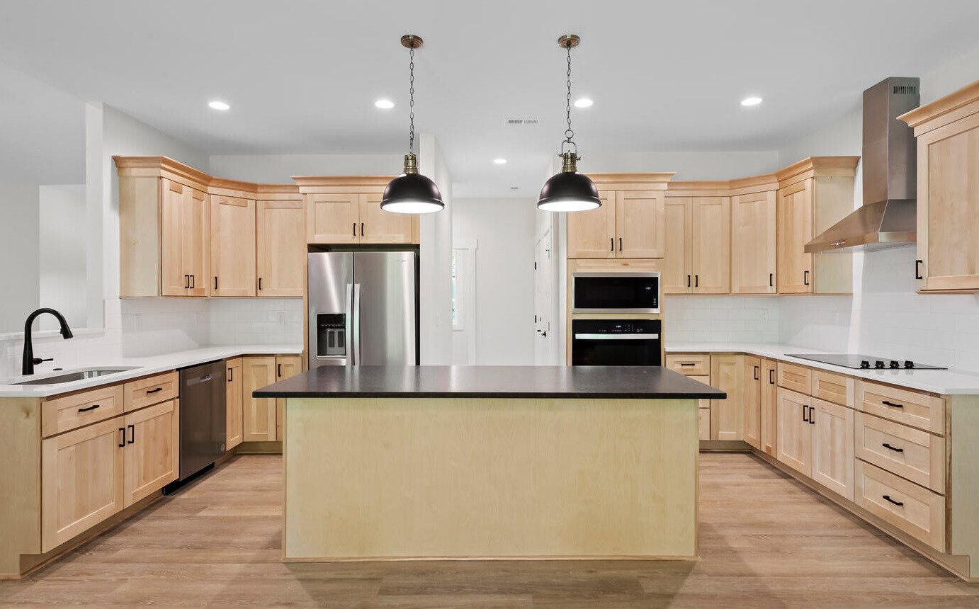
[[[302,201],[257,202],[257,296],[303,296],[306,279],[304,225]]]

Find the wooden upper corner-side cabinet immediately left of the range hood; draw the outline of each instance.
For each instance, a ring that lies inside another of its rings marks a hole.
[[[851,294],[853,255],[807,254],[805,246],[854,210],[860,157],[810,157],[775,172],[778,294]]]

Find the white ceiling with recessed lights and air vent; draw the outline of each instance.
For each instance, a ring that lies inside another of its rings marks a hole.
[[[575,96],[595,101],[573,109],[586,170],[589,155],[613,152],[777,149],[858,107],[881,78],[918,75],[970,50],[979,23],[974,0],[0,7],[0,61],[210,154],[402,152],[407,51],[398,38],[417,33],[426,45],[416,124],[439,138],[456,196],[536,195],[564,130],[556,38],[565,31],[583,37]],[[749,94],[765,103],[742,108]],[[379,97],[396,108],[376,110]],[[213,98],[231,111],[211,111]],[[507,117],[541,123],[508,127]],[[491,164],[496,157],[509,163]]]

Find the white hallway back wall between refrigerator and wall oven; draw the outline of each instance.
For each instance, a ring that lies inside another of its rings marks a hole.
[[[476,240],[476,363],[534,364],[532,199],[457,199],[455,239]]]

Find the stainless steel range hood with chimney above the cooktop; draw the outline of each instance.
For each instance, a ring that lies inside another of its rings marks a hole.
[[[898,117],[918,107],[917,78],[863,91],[863,205],[806,244],[806,252],[883,250],[917,240],[914,131]]]

